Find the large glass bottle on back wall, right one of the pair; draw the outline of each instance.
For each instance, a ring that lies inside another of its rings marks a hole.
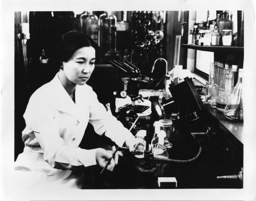
[[[120,59],[116,52],[117,18],[110,11],[99,16],[99,47],[101,48],[101,63],[108,63],[110,59]]]

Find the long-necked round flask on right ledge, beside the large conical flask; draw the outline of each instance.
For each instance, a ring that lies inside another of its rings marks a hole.
[[[223,93],[221,93],[216,99],[216,108],[220,112],[224,111],[224,109],[227,105],[227,101],[229,100],[230,93],[231,93],[232,68],[226,69],[225,75],[226,75],[225,91]]]

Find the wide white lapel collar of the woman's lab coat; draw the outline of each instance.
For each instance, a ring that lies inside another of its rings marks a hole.
[[[50,83],[52,85],[52,100],[54,108],[72,115],[81,123],[85,119],[86,108],[84,103],[88,99],[86,98],[86,90],[83,90],[85,86],[76,86],[76,103],[74,103],[72,98],[68,95],[68,92],[66,92],[64,86],[62,86],[60,79],[58,78],[58,73]]]

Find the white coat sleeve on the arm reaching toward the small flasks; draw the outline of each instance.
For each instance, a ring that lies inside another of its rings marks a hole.
[[[99,135],[105,133],[105,136],[109,137],[120,147],[123,146],[127,139],[134,138],[132,133],[99,103],[97,95],[93,90],[91,90],[90,94],[89,122],[93,125],[96,133]]]

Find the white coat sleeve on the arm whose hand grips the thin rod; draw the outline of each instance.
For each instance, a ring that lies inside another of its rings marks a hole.
[[[43,150],[43,158],[53,168],[75,169],[96,164],[97,149],[85,150],[64,145],[53,109],[46,98],[32,95],[24,114]]]

